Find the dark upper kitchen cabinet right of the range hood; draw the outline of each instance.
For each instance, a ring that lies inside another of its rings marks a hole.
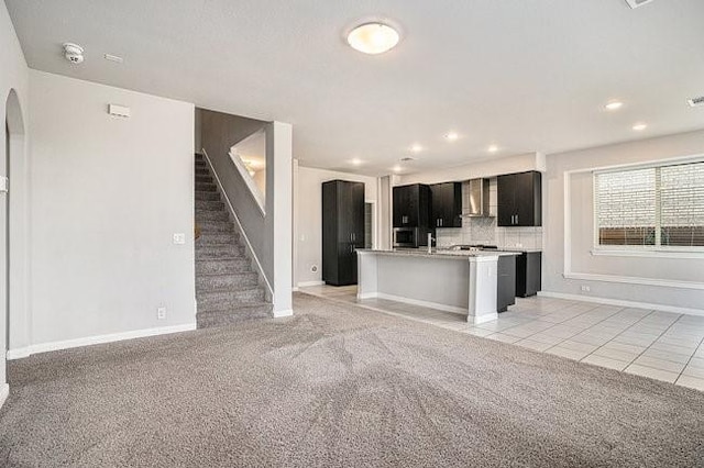
[[[497,224],[542,225],[542,175],[536,170],[496,178]]]

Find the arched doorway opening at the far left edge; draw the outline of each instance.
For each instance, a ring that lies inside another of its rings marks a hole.
[[[12,200],[13,165],[24,154],[24,120],[20,100],[14,90],[10,90],[6,100],[4,157],[0,158],[0,317],[4,324],[4,350],[10,347],[12,268],[11,248],[13,238],[10,233],[14,203]]]

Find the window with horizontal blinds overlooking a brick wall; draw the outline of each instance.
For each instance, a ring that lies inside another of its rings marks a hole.
[[[704,161],[595,172],[600,246],[703,247]]]

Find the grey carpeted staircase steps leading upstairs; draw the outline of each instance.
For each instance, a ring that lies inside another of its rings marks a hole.
[[[202,155],[196,155],[196,298],[199,328],[268,317],[258,275],[240,244]]]

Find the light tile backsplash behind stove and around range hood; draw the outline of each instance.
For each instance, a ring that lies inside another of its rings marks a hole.
[[[462,227],[436,231],[438,247],[455,244],[488,244],[507,248],[542,249],[542,227],[498,227],[496,225],[496,178],[490,179],[491,218],[462,218]],[[470,183],[462,182],[462,212],[469,213]]]

